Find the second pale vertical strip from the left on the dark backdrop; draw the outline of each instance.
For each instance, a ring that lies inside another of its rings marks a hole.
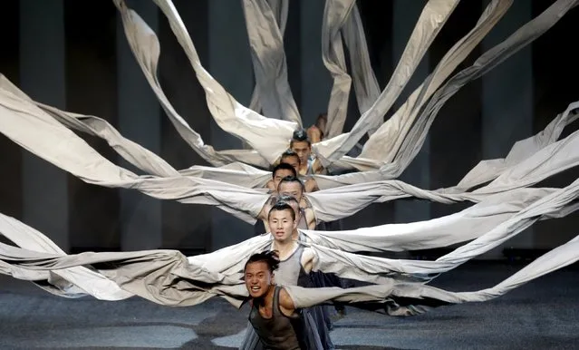
[[[158,7],[150,1],[128,0],[127,5],[137,12],[150,28],[158,32]],[[117,13],[117,93],[119,131],[150,151],[160,155],[160,106],[139,64],[130,51]],[[140,172],[119,159],[122,167]],[[138,191],[121,190],[121,248],[140,250],[161,248],[161,201],[143,196]]]

